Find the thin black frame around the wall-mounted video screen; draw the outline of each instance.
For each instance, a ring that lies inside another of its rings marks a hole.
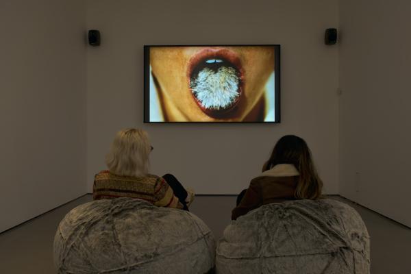
[[[274,67],[275,67],[275,74],[274,74],[274,79],[275,79],[275,117],[276,121],[229,121],[229,122],[224,122],[224,121],[160,121],[160,122],[152,122],[149,121],[149,116],[150,116],[150,48],[151,47],[274,47],[275,51],[275,60],[274,60]],[[231,124],[231,123],[245,123],[245,124],[251,124],[251,123],[258,123],[258,124],[277,124],[281,123],[281,103],[280,103],[280,75],[281,75],[281,67],[280,67],[280,51],[281,51],[281,45],[144,45],[144,79],[143,79],[143,84],[144,84],[144,90],[143,90],[143,101],[144,101],[144,110],[143,110],[143,116],[144,116],[144,121],[143,123],[149,123],[149,124],[169,124],[169,123],[180,123],[180,124],[190,124],[190,123],[201,123],[201,124],[210,124],[210,123],[223,123],[223,124]]]

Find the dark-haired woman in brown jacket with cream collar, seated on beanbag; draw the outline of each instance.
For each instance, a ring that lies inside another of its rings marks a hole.
[[[306,141],[294,135],[283,136],[262,166],[262,174],[238,195],[232,220],[267,203],[319,199],[322,188]]]

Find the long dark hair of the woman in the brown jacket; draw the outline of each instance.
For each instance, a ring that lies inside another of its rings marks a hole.
[[[319,199],[323,182],[316,172],[311,151],[305,140],[294,135],[286,135],[275,144],[271,157],[262,166],[262,171],[276,164],[293,164],[299,171],[299,182],[295,197],[299,199]]]

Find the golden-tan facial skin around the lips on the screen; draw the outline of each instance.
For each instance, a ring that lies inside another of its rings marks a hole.
[[[190,90],[190,63],[205,49],[234,53],[241,66],[240,99],[231,111],[218,117],[201,110]],[[150,64],[166,121],[253,121],[264,105],[264,86],[274,71],[274,48],[151,47]]]

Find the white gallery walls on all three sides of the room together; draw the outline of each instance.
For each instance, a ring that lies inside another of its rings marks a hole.
[[[411,4],[337,2],[3,1],[0,232],[91,192],[124,127],[149,132],[152,173],[199,194],[236,194],[297,134],[325,193],[410,226]],[[338,45],[324,45],[327,27]],[[143,124],[142,46],[176,44],[281,44],[282,123]]]

